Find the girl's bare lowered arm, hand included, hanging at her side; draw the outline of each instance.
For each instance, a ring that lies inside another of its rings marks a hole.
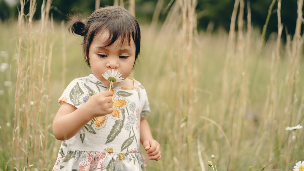
[[[149,160],[161,159],[161,145],[153,139],[148,121],[140,119],[140,141],[147,151]]]

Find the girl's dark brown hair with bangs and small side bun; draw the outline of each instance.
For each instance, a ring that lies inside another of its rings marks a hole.
[[[118,38],[124,42],[128,40],[131,46],[131,40],[135,44],[135,61],[140,52],[140,28],[135,18],[126,9],[119,6],[106,6],[94,11],[87,21],[74,16],[71,19],[69,31],[84,37],[82,45],[84,46],[85,61],[90,67],[89,49],[90,45],[99,31],[109,31],[109,39],[106,46],[113,44]],[[132,37],[132,39],[131,39]]]

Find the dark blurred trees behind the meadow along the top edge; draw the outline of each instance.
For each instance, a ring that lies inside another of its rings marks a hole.
[[[173,0],[162,0],[161,13],[159,15],[159,21],[164,22],[169,8]],[[105,5],[113,5],[112,0],[102,0],[100,2],[100,7]],[[139,23],[150,23],[153,18],[154,9],[157,4],[157,0],[136,0],[135,1],[135,13],[136,20]],[[206,30],[208,24],[210,27],[214,27],[214,30],[222,27],[226,31],[230,28],[230,17],[233,11],[234,0],[198,0],[196,5],[197,12],[197,28],[199,30]],[[266,16],[268,13],[269,5],[271,0],[252,0],[251,4],[251,22],[255,28],[262,30],[265,24]],[[37,7],[42,5],[42,1],[37,1]],[[50,7],[50,12],[53,14],[54,21],[68,21],[68,16],[71,14],[82,13],[83,16],[90,15],[95,10],[94,1],[70,1],[63,0],[52,1],[52,6]],[[247,3],[245,3],[246,8]],[[20,2],[18,0],[0,0],[0,18],[3,21],[9,19],[17,19],[18,16],[18,6],[20,8]],[[129,1],[124,2],[124,6],[128,9]],[[284,23],[283,33],[293,35],[295,32],[295,21],[297,19],[297,1],[289,0],[282,1],[282,23]],[[25,13],[28,13],[29,3],[25,5]],[[272,18],[276,17],[276,9],[272,11]],[[34,15],[34,19],[39,19],[41,16],[41,9],[37,8]],[[244,16],[244,20],[247,21],[247,17]],[[269,26],[267,29],[266,37],[270,33],[277,31],[278,21],[276,19],[271,19],[269,21]],[[213,29],[212,29],[213,30]],[[302,29],[303,30],[303,29]],[[283,34],[286,39],[286,34]]]

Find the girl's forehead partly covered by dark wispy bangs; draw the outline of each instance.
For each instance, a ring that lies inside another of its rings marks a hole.
[[[109,30],[99,31],[93,41],[92,45],[94,47],[108,47],[108,46],[115,46],[116,48],[123,48],[123,47],[130,47],[132,50],[135,51],[135,43],[132,38],[127,35],[120,35],[116,38],[115,42],[111,44],[112,37]]]

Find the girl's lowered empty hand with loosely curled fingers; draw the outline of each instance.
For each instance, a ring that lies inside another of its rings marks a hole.
[[[161,145],[154,140],[146,140],[143,142],[143,147],[147,150],[147,156],[149,160],[161,159]]]

